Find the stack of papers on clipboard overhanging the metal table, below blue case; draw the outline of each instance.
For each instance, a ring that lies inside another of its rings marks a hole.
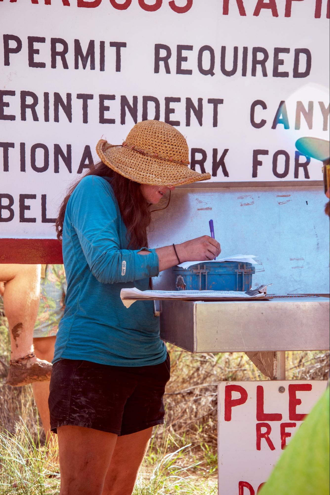
[[[260,286],[258,289],[238,292],[238,291],[139,291],[132,289],[122,289],[121,299],[128,308],[138,299],[159,300],[159,299],[190,299],[190,300],[207,300],[207,299],[256,299],[264,298],[267,293],[267,286]]]

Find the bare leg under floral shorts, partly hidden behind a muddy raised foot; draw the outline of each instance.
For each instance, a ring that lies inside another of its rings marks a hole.
[[[51,362],[54,357],[54,346],[56,336],[52,337],[38,337],[33,339],[36,356],[39,359],[44,359]],[[48,396],[49,396],[49,382],[35,382],[32,384],[33,395],[38,407],[38,411],[41,417],[42,426],[46,434],[46,444],[54,435],[50,431],[49,420],[49,408],[48,408]]]

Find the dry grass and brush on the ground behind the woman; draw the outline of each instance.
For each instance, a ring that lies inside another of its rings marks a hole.
[[[9,360],[5,321],[0,321],[0,494],[58,493],[47,473],[56,447],[47,452],[31,386],[4,384]],[[242,353],[192,355],[169,345],[171,380],[165,393],[166,422],[154,432],[134,495],[216,493],[219,381],[265,380]],[[329,378],[329,352],[287,352],[288,379]],[[5,455],[5,451],[7,454]],[[8,453],[9,452],[9,453]],[[47,455],[48,454],[48,455]],[[49,455],[51,454],[51,455]],[[12,484],[17,484],[20,489]],[[19,490],[19,491],[18,491]]]

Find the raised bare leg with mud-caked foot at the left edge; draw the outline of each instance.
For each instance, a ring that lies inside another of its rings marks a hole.
[[[3,306],[11,343],[7,384],[16,387],[50,380],[51,364],[38,359],[33,349],[40,275],[41,265],[0,264],[0,280],[5,282]]]

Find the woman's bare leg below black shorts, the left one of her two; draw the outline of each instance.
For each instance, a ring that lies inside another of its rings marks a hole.
[[[61,426],[57,433],[60,495],[101,495],[117,435],[81,426]]]

